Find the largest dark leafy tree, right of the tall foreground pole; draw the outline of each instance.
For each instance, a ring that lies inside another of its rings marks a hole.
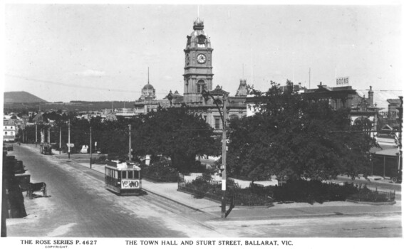
[[[250,180],[367,175],[369,149],[376,143],[368,134],[349,132],[358,129],[351,126],[349,110],[305,100],[287,85],[282,91],[271,82],[268,92],[253,91],[257,113],[229,122],[229,174]]]

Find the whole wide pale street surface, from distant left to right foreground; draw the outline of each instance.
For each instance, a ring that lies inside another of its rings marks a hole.
[[[7,219],[10,237],[403,236],[400,201],[393,206],[316,203],[302,208],[299,203],[291,203],[273,208],[235,208],[222,220],[217,216],[219,205],[215,212],[195,211],[150,192],[143,196],[116,196],[104,189],[103,175],[99,172],[66,159],[39,154],[33,144],[21,147],[14,144],[14,151],[9,154],[24,161],[31,182],[43,181],[48,186],[47,197],[40,193],[33,199],[25,197],[26,218]],[[333,216],[316,215],[326,205]],[[281,216],[271,216],[275,212]],[[291,215],[296,212],[299,216]]]

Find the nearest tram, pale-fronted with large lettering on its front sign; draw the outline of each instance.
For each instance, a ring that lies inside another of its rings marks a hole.
[[[105,189],[122,196],[140,195],[140,166],[133,161],[106,161]]]

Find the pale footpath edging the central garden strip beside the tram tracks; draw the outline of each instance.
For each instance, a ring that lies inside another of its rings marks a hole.
[[[57,153],[57,152],[56,152]],[[67,154],[53,154],[63,162],[78,164],[90,168],[89,155],[71,154],[68,159]],[[103,164],[93,164],[93,171],[104,174]],[[155,183],[142,180],[143,190],[150,194],[155,194],[163,198],[170,199],[183,206],[197,211],[209,213],[214,217],[221,216],[221,203],[206,198],[194,198],[191,194],[177,191],[177,183]],[[396,191],[396,195],[400,192]],[[229,208],[229,206],[227,206]],[[232,209],[227,220],[264,220],[277,218],[315,218],[327,216],[386,216],[401,214],[401,201],[396,201],[393,205],[371,205],[368,203],[353,203],[348,201],[332,201],[326,203],[274,203],[274,206],[266,207],[241,207]]]

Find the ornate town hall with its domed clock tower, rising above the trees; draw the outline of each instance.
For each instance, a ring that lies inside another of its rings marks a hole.
[[[204,31],[204,22],[198,17],[194,22],[193,31],[187,36],[187,43],[184,49],[185,67],[184,67],[184,96],[183,101],[172,101],[175,95],[168,95],[170,105],[187,105],[192,112],[202,115],[211,127],[219,132],[222,129],[217,105],[212,98],[207,100],[202,96],[202,91],[208,91],[212,95],[227,96],[227,117],[242,117],[246,115],[246,97],[247,81],[240,80],[237,94],[229,96],[229,92],[223,90],[219,85],[213,90],[213,66],[212,66],[213,48],[210,38]],[[222,107],[222,105],[220,106]]]

